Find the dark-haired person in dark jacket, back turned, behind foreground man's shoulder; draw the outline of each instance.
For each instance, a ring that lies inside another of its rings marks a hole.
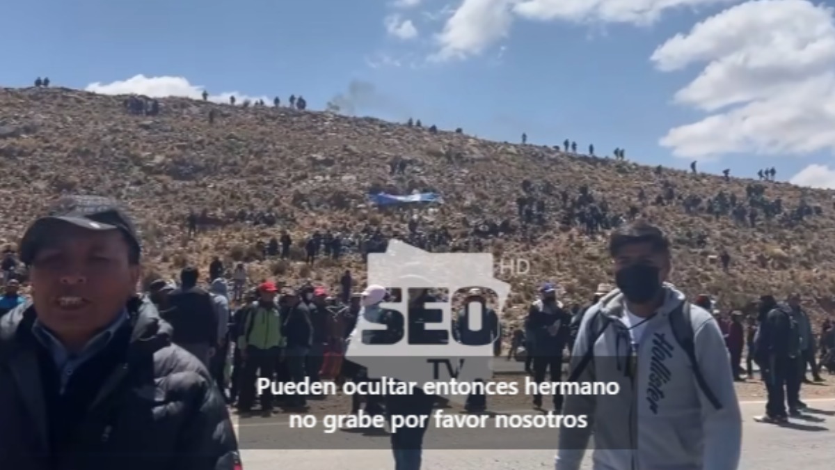
[[[197,268],[183,268],[180,289],[168,295],[170,309],[163,314],[174,327],[174,342],[208,365],[215,354],[217,314],[208,292],[197,287]]]

